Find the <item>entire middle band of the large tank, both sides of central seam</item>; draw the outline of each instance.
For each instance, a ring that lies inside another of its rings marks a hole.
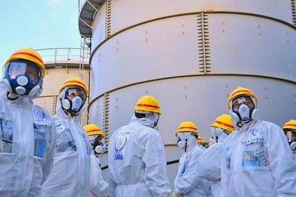
[[[206,32],[200,32],[202,20]],[[209,39],[205,46],[200,41],[203,34]],[[203,48],[208,58],[199,54]],[[231,14],[167,18],[123,31],[101,45],[91,62],[97,78],[93,88],[100,94],[130,83],[204,71],[294,80],[295,49],[295,29],[267,18]],[[200,66],[203,60],[209,63],[206,70]]]

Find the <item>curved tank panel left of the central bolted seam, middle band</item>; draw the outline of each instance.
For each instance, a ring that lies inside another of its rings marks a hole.
[[[198,73],[196,22],[196,16],[168,18],[110,38],[94,53],[91,62],[99,82],[94,84],[95,92],[154,78]]]

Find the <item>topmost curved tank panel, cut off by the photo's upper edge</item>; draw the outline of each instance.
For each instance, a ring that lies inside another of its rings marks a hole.
[[[200,11],[214,12],[242,12],[265,15],[292,23],[293,0],[264,0],[264,1],[236,1],[236,0],[208,0],[208,1],[182,1],[182,0],[126,0],[108,1],[110,11],[111,30],[117,32],[128,26],[177,14]],[[103,4],[103,7],[106,4]],[[101,16],[103,17],[103,16]],[[99,18],[99,16],[96,16]],[[103,23],[100,25],[105,26]],[[93,34],[94,35],[94,34]]]

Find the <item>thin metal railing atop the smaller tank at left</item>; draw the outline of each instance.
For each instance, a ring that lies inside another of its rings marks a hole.
[[[45,48],[45,49],[37,49],[40,55],[42,56],[45,62],[54,62],[57,63],[59,61],[68,62],[68,61],[76,61],[79,62],[81,60],[81,49],[80,48]],[[86,60],[86,62],[88,62]]]

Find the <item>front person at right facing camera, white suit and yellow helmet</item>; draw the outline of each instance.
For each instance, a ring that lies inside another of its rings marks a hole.
[[[296,167],[283,130],[258,120],[257,97],[238,87],[228,107],[236,132],[225,140],[224,196],[296,196]]]

